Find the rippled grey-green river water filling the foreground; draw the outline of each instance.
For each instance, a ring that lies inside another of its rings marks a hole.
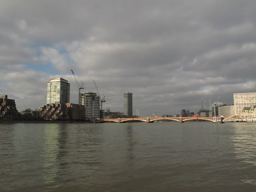
[[[0,124],[0,191],[256,191],[256,123]]]

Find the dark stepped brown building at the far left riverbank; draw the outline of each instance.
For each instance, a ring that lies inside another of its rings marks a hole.
[[[16,109],[14,99],[8,99],[7,95],[0,96],[0,120],[18,120],[20,113]]]

